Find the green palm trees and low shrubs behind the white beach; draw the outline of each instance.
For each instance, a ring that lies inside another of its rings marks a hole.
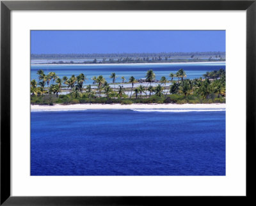
[[[38,70],[38,82],[31,81],[31,104],[53,105],[77,104],[77,103],[225,103],[225,70],[207,72],[204,78],[193,80],[186,79],[186,71],[180,69],[176,73],[170,73],[169,77],[162,77],[155,87],[156,75],[153,70],[148,70],[145,76],[147,86],[139,84],[134,87],[138,80],[130,77],[128,82],[131,87],[124,88],[122,85],[111,87],[102,75],[93,77],[92,85],[85,85],[86,76],[81,73],[77,77],[59,78],[56,73],[45,74]],[[111,73],[111,84],[115,84],[116,75]],[[173,80],[173,78],[177,80]],[[170,86],[166,86],[166,83]],[[60,94],[68,91],[68,94]]]

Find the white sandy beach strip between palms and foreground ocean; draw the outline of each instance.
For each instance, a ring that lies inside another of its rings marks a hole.
[[[31,111],[93,110],[93,109],[225,109],[226,104],[76,104],[76,105],[31,105]]]

